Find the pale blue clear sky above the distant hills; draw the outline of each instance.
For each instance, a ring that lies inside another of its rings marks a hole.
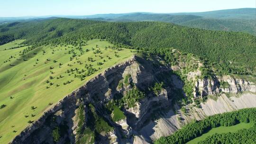
[[[256,0],[0,0],[0,17],[256,8]]]

